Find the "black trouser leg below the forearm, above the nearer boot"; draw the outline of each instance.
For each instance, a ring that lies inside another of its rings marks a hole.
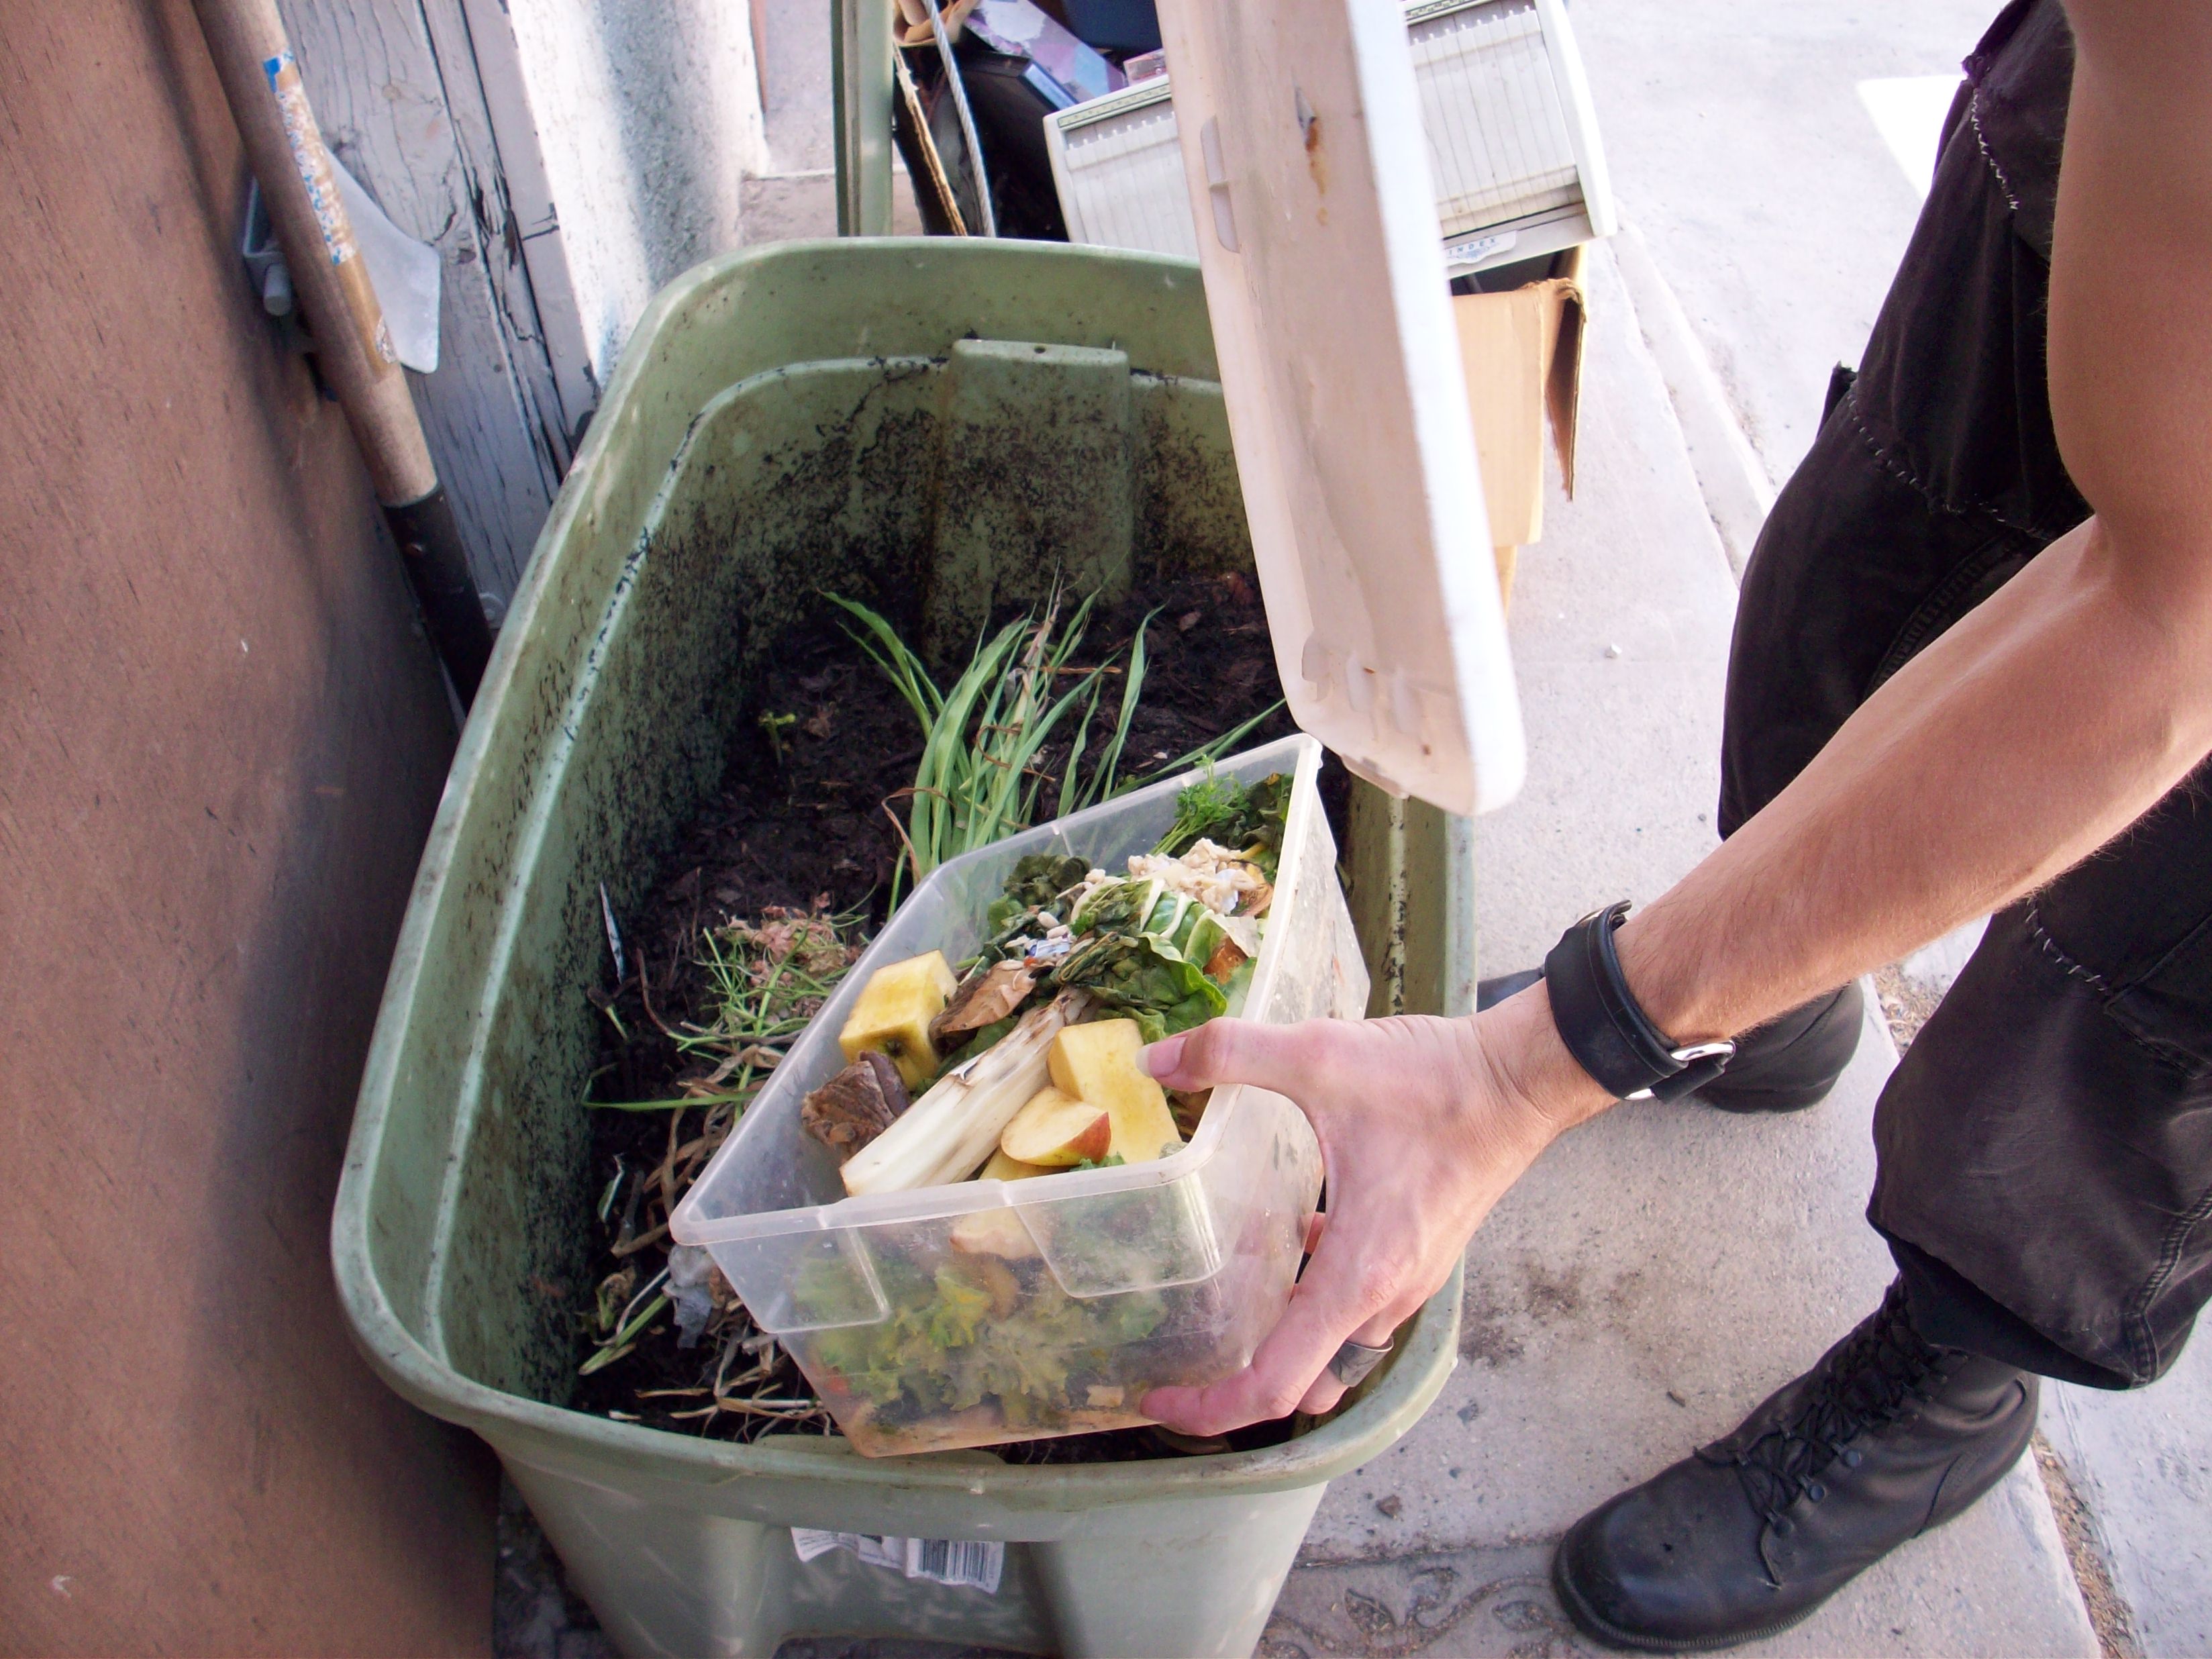
[[[1991,918],[1882,1091],[1867,1219],[1962,1347],[2137,1387],[2212,1298],[2208,783]]]

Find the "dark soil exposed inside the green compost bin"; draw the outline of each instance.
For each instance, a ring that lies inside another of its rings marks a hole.
[[[1281,699],[1274,650],[1259,593],[1243,575],[1183,577],[1135,593],[1124,604],[1093,615],[1079,653],[1082,664],[1121,664],[1144,617],[1146,677],[1130,723],[1124,774],[1141,776],[1188,754],[1252,719]],[[942,681],[940,681],[942,684]],[[1119,701],[1119,679],[1102,699],[1102,717]],[[790,717],[763,721],[761,717]],[[1252,748],[1294,730],[1276,710],[1239,748]],[[1095,748],[1095,745],[1093,745]],[[712,1022],[712,982],[699,964],[701,938],[730,922],[790,925],[794,918],[843,918],[847,951],[874,936],[889,902],[891,872],[902,858],[891,812],[905,818],[905,796],[922,741],[914,712],[889,679],[860,653],[827,604],[794,630],[734,734],[721,787],[684,830],[677,852],[659,872],[650,900],[635,916],[619,916],[626,978],[595,1002],[611,1013],[602,1022],[602,1048],[591,1099],[675,1099],[686,1079],[712,1068],[712,1057],[686,1055],[668,1033],[686,1024]],[[1066,741],[1042,757],[1042,770],[1057,779]],[[1046,785],[1051,787],[1051,785]],[[1334,763],[1323,774],[1323,799],[1345,836],[1347,776]],[[801,927],[821,927],[821,920]],[[608,971],[608,980],[613,980]],[[650,1006],[648,1006],[650,1000]],[[801,1013],[807,1009],[801,1009]],[[633,1267],[624,1301],[666,1265],[666,1210],[650,1190],[655,1170],[670,1166],[677,1197],[703,1168],[712,1146],[728,1133],[728,1108],[684,1110],[595,1110],[591,1148],[591,1192],[595,1206],[582,1217],[593,1263],[591,1281]],[[597,1199],[622,1172],[608,1214]],[[646,1179],[639,1179],[639,1177]],[[624,1228],[628,1228],[624,1232]],[[613,1254],[622,1241],[626,1254]],[[575,1358],[582,1365],[597,1349],[580,1310]],[[650,1298],[639,1298],[639,1305]],[[717,1318],[697,1347],[679,1347],[664,1312],[635,1347],[604,1369],[582,1376],[571,1405],[580,1411],[619,1416],[677,1433],[723,1440],[757,1440],[763,1433],[836,1433],[825,1413],[763,1407],[759,1413],[712,1411],[708,1385],[723,1354],[734,1352],[734,1369],[759,1369],[759,1360],[732,1336],[750,1336],[743,1312]],[[754,1343],[759,1347],[759,1340]],[[772,1369],[754,1376],[743,1394],[761,1400],[812,1400],[799,1367],[770,1347]],[[726,1383],[728,1387],[728,1383]],[[730,1389],[732,1394],[737,1389]],[[1261,1425],[1232,1436],[1237,1449],[1274,1444],[1287,1425]],[[1064,1436],[995,1447],[1006,1462],[1119,1462],[1219,1451],[1221,1442],[1179,1444],[1155,1429]]]

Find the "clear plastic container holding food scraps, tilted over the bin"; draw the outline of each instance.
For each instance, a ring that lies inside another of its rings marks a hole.
[[[1292,772],[1274,900],[1243,1015],[1356,1020],[1367,969],[1321,810],[1321,745],[1250,750],[1219,772]],[[1119,872],[1150,852],[1197,774],[956,858],[898,909],[677,1206],[754,1323],[799,1360],[867,1455],[984,1447],[1148,1418],[1146,1389],[1241,1369],[1274,1325],[1321,1199],[1314,1130],[1281,1095],[1217,1088],[1190,1144],[1155,1164],[845,1197],[799,1126],[845,1057],[869,973],[931,949],[962,960],[1015,860],[1064,852]]]

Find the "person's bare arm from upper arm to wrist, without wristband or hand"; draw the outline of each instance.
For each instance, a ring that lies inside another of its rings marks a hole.
[[[1677,1042],[1739,1035],[2093,854],[2212,748],[2212,13],[2068,0],[2051,414],[2099,518],[1907,664],[1805,772],[1630,916],[1621,964]],[[1493,1011],[1500,1013],[1500,1011]],[[1595,1110],[1542,1009],[1498,1035]]]

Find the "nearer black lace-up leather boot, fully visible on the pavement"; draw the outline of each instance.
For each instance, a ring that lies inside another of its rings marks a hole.
[[[1785,1630],[1951,1520],[2028,1447],[2037,1378],[1907,1318],[1905,1285],[1732,1436],[1593,1509],[1551,1577],[1617,1648],[1699,1652]]]

